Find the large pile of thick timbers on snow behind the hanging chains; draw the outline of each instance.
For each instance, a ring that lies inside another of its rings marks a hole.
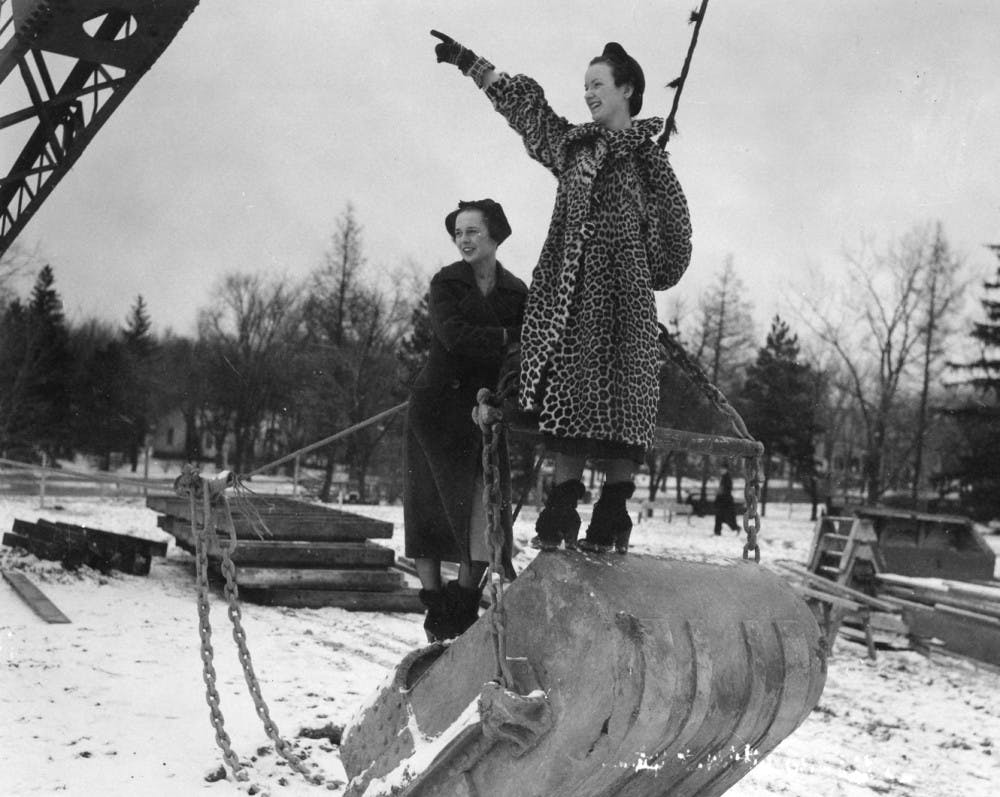
[[[157,525],[195,552],[191,504],[174,495],[150,496]],[[337,606],[355,611],[422,612],[419,590],[394,567],[395,552],[372,539],[392,537],[392,524],[281,496],[231,501],[240,597],[269,606]],[[203,524],[200,505],[195,522]],[[263,527],[263,528],[262,528]],[[261,539],[261,533],[264,538]],[[209,572],[221,578],[220,529],[208,535]]]

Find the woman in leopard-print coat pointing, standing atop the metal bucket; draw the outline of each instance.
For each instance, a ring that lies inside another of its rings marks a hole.
[[[537,544],[575,545],[589,459],[603,463],[606,480],[580,547],[624,553],[632,528],[626,500],[656,420],[653,291],[674,285],[691,259],[687,202],[667,154],[653,141],[663,121],[633,120],[645,78],[615,42],[584,76],[592,121],[573,125],[549,107],[531,78],[497,72],[450,37],[431,33],[441,40],[438,61],[485,89],[528,154],[559,181],[521,347],[520,403],[538,412],[556,452],[555,487],[538,517]]]

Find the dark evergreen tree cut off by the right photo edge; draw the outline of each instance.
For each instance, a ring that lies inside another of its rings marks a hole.
[[[1000,244],[987,246],[1000,260]],[[952,366],[968,374],[972,394],[950,409],[966,442],[956,472],[963,511],[978,520],[1000,517],[1000,266],[995,279],[983,282],[985,320],[976,322],[972,338],[979,356]]]

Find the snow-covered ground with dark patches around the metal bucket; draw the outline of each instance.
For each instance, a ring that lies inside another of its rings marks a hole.
[[[170,540],[141,498],[0,497],[0,532],[14,518],[48,518]],[[635,504],[638,510],[638,502]],[[57,508],[58,507],[58,508]],[[392,521],[402,510],[353,507]],[[805,560],[806,507],[769,507],[762,562]],[[535,513],[515,529],[523,568]],[[633,532],[637,553],[739,557],[735,534],[711,518],[662,510]],[[1000,550],[1000,538],[989,542]],[[209,722],[199,655],[192,557],[173,545],[148,576],[65,572],[57,563],[0,547],[0,567],[19,569],[72,622],[48,625],[0,584],[0,795],[339,794],[345,780],[324,731],[347,723],[409,651],[422,618],[244,604],[261,691],[278,729],[326,780],[307,783],[276,755],[247,691],[225,604],[213,599],[214,663],[225,729],[245,782],[215,780],[222,762]],[[802,726],[733,789],[735,797],[871,794],[985,797],[1000,788],[1000,670],[838,641],[826,689]],[[305,735],[303,735],[303,732]],[[319,738],[310,738],[316,736]],[[484,796],[485,797],[485,796]]]

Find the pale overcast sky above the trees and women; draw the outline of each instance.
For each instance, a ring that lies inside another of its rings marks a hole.
[[[640,116],[666,116],[696,6],[202,0],[19,243],[53,265],[71,318],[123,321],[142,294],[159,331],[191,334],[222,275],[318,265],[348,202],[373,268],[430,275],[456,259],[445,214],[490,196],[514,229],[500,259],[527,281],[555,180],[435,62],[429,29],[531,75],[574,122],[587,62],[619,41],[646,73]],[[937,220],[984,273],[998,30],[995,0],[711,2],[669,148],[694,226],[669,293],[693,303],[732,255],[766,323],[862,235]]]

